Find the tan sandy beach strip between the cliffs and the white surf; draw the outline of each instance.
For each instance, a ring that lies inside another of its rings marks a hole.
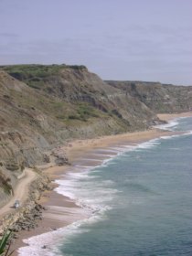
[[[165,121],[171,121],[179,117],[189,116],[192,116],[192,112],[180,114],[158,114],[158,117]],[[56,178],[59,179],[61,176],[62,179],[64,179],[65,177],[63,177],[63,175],[66,173],[75,172],[75,165],[77,165],[80,161],[86,164],[86,155],[89,155],[90,152],[96,152],[96,150],[100,148],[110,149],[111,147],[115,146],[132,146],[159,138],[163,135],[173,134],[176,133],[153,128],[144,132],[123,133],[103,136],[95,139],[72,141],[67,146],[60,147],[62,151],[65,151],[66,155],[69,157],[69,162],[72,165],[52,166],[48,167],[48,169],[43,169],[42,172],[45,172],[45,174],[48,175],[52,180],[55,180]],[[101,161],[104,161],[105,159],[109,159],[109,156],[106,155],[106,157],[103,157]],[[98,165],[98,163],[99,162],[93,162],[92,168]],[[54,186],[59,187],[59,185],[56,183],[54,183]],[[16,249],[13,254],[15,256],[18,255],[17,250],[20,247],[27,246],[27,244],[23,242],[24,239],[27,240],[30,237],[34,237],[48,231],[64,228],[80,219],[88,219],[90,217],[89,214],[85,214],[84,209],[80,208],[80,206],[78,206],[74,200],[69,199],[69,197],[59,195],[59,193],[54,190],[44,192],[37,203],[47,208],[47,210],[43,212],[43,219],[38,221],[37,229],[19,232],[19,238],[15,240],[15,243],[12,246],[12,249]],[[59,211],[59,209],[61,210]]]

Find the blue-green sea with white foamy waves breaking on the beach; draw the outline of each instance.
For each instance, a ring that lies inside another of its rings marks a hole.
[[[96,167],[79,162],[79,172],[58,180],[57,192],[91,217],[27,240],[19,255],[192,255],[192,118],[159,128],[185,133],[94,150],[88,160],[109,158]]]

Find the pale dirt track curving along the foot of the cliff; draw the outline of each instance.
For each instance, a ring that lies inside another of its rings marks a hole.
[[[37,174],[32,171],[32,169],[26,168],[25,169],[25,176],[19,179],[19,182],[15,189],[15,195],[11,198],[11,200],[3,207],[0,208],[0,219],[7,213],[14,211],[15,209],[12,208],[15,201],[19,200],[20,204],[25,201],[27,198],[27,192],[29,184],[37,177]]]

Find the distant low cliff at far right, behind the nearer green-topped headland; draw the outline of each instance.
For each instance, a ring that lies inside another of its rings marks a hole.
[[[192,109],[192,86],[174,86],[158,82],[106,81],[144,102],[153,112],[187,112]]]

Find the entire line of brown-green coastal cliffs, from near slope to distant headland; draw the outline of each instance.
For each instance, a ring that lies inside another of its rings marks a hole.
[[[71,138],[144,130],[155,112],[192,108],[192,88],[103,81],[84,66],[0,67],[0,198],[8,198],[24,166]]]

